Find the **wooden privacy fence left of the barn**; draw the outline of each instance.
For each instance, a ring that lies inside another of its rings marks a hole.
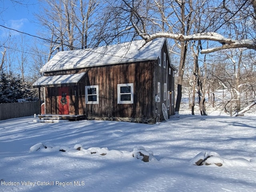
[[[4,103],[0,104],[0,120],[32,116],[39,114],[38,102]]]

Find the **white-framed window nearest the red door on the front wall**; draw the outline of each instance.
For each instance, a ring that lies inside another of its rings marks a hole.
[[[99,104],[98,85],[85,86],[85,100],[86,104]]]

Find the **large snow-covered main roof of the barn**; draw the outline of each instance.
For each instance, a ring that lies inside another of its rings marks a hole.
[[[156,38],[147,44],[144,40],[135,40],[98,48],[61,51],[40,72],[156,60],[165,40],[166,38]]]

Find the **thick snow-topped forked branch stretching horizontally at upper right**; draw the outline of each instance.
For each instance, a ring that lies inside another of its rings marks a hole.
[[[250,39],[234,40],[230,38],[225,38],[224,36],[216,32],[197,33],[192,35],[158,32],[152,35],[143,36],[146,42],[149,42],[155,38],[160,38],[160,37],[171,38],[178,41],[211,40],[211,41],[220,42],[222,44],[222,46],[204,49],[201,51],[202,54],[211,53],[211,52],[215,52],[223,49],[230,49],[230,48],[248,48],[248,49],[256,50],[256,42],[254,42],[254,40],[250,40]]]

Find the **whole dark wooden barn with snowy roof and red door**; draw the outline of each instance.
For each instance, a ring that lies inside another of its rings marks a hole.
[[[174,72],[166,38],[58,52],[33,87],[39,117],[156,123],[174,114]]]

